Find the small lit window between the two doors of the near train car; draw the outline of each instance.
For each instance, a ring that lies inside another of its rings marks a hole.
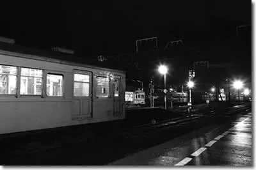
[[[109,79],[108,77],[97,77],[97,97],[108,97]]]

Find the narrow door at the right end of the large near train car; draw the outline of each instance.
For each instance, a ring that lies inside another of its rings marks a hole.
[[[113,78],[113,115],[119,116],[122,113],[120,100],[120,76],[115,75]]]

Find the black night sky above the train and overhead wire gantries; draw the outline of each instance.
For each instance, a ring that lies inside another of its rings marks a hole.
[[[161,57],[211,63],[243,58],[242,71],[252,71],[249,1],[6,1],[0,16],[0,36],[37,49],[65,47],[84,58],[132,54],[136,40],[157,36],[161,50],[170,41],[184,42]],[[236,36],[241,25],[249,26]]]

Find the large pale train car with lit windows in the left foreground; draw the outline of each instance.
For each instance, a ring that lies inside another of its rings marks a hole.
[[[0,50],[0,134],[122,120],[124,92],[123,71]]]

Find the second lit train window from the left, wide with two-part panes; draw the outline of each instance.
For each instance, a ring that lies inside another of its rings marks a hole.
[[[20,95],[42,95],[43,70],[21,68]]]

